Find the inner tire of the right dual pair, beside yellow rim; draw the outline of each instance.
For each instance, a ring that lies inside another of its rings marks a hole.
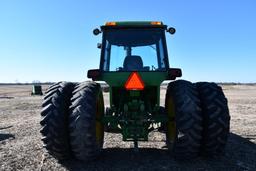
[[[196,87],[188,81],[169,83],[165,108],[169,117],[166,142],[177,159],[198,156],[202,139],[202,116]]]

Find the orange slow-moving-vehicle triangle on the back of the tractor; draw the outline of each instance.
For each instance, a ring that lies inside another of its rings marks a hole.
[[[144,82],[138,72],[132,72],[125,83],[126,90],[143,90]]]

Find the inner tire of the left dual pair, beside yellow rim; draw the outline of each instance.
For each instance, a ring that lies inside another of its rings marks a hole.
[[[104,141],[104,101],[100,85],[81,83],[75,87],[70,106],[70,144],[79,160],[95,159]]]

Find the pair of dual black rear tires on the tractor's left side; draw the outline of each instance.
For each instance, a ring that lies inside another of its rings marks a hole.
[[[89,161],[96,158],[104,139],[100,119],[104,103],[100,85],[60,82],[46,91],[41,111],[44,147],[58,160],[75,156]]]

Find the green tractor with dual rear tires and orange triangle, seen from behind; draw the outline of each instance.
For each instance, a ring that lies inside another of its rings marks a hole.
[[[182,75],[169,66],[166,32],[175,29],[162,22],[107,22],[93,31],[102,33],[99,69],[87,73],[93,81],[59,82],[46,91],[40,132],[51,155],[93,160],[102,151],[105,131],[121,133],[135,149],[151,131],[164,132],[177,159],[224,151],[230,116],[220,86],[170,81],[160,106],[161,83]],[[109,85],[109,107],[96,81]]]

